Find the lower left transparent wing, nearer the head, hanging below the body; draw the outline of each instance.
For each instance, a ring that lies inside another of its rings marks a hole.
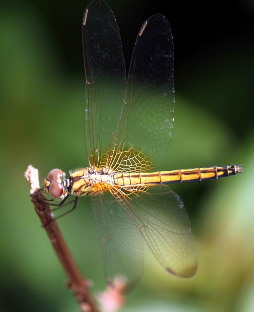
[[[107,281],[134,287],[143,273],[143,237],[127,213],[108,192],[91,197],[102,247]]]

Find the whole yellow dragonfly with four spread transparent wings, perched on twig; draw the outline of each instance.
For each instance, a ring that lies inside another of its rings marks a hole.
[[[162,14],[149,17],[135,42],[129,75],[119,28],[104,0],[83,15],[86,74],[84,138],[89,166],[55,168],[44,190],[60,206],[89,196],[105,275],[113,287],[133,288],[143,272],[143,242],[161,266],[182,278],[197,270],[197,253],[181,198],[170,183],[234,176],[241,165],[159,171],[174,126],[174,44]],[[157,171],[156,171],[157,170]]]

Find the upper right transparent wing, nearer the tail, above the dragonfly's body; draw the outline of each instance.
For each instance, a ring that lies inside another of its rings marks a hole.
[[[164,159],[174,124],[174,45],[165,16],[156,14],[142,25],[135,48],[125,100],[108,165],[122,146],[142,151],[158,166]]]

